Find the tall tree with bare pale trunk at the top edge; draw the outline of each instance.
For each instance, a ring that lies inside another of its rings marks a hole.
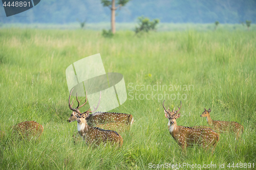
[[[101,4],[103,4],[104,7],[109,7],[111,10],[111,31],[113,34],[116,32],[116,10],[125,6],[129,1],[130,0],[117,0],[116,3],[115,0],[101,0]]]

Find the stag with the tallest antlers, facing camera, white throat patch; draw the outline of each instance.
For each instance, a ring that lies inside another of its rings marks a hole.
[[[74,114],[77,117],[77,130],[79,135],[83,138],[83,140],[87,143],[87,144],[95,144],[96,146],[98,146],[100,143],[111,143],[111,144],[117,144],[121,147],[122,143],[123,143],[123,138],[122,136],[120,136],[117,132],[115,131],[111,131],[111,130],[104,130],[104,129],[100,129],[97,127],[91,127],[87,124],[87,120],[86,118],[90,115],[90,113],[95,112],[98,107],[99,107],[99,103],[100,103],[100,99],[101,99],[101,92],[100,92],[100,98],[99,98],[99,102],[96,108],[94,108],[93,111],[90,111],[91,108],[83,113],[81,113],[78,108],[79,107],[79,103],[80,101],[78,101],[78,106],[74,109],[72,108],[73,105],[73,101],[72,101],[72,105],[70,104],[70,96],[72,93],[73,89],[70,92],[69,95],[69,108],[70,110],[73,111],[72,114]],[[86,102],[83,104],[85,105],[87,103],[87,95],[86,95]],[[82,106],[83,106],[82,105]]]

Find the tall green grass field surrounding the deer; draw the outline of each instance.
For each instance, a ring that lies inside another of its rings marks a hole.
[[[71,111],[65,70],[97,53],[106,72],[124,76],[127,101],[112,111],[135,119],[130,131],[121,133],[119,150],[74,144],[77,125],[67,123]],[[241,164],[228,168],[228,163],[243,163],[246,169],[251,163],[253,169],[255,54],[255,31],[188,30],[141,37],[119,31],[114,38],[103,38],[100,31],[90,30],[1,29],[0,130],[6,135],[0,140],[0,169],[148,169],[165,163],[200,164],[202,169],[220,169],[220,164],[222,169],[242,169]],[[244,126],[242,140],[221,134],[213,155],[198,147],[184,154],[168,132],[164,99],[170,108],[182,101],[178,125],[207,125],[200,114],[211,108],[212,119]],[[17,140],[8,133],[26,120],[44,126],[39,141]],[[209,164],[216,168],[203,168]]]

